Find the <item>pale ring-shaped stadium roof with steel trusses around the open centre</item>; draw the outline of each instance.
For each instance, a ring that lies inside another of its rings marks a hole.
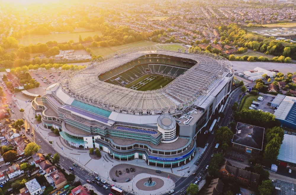
[[[192,59],[197,64],[167,86],[151,91],[137,91],[98,79],[103,72],[149,54]],[[228,60],[207,52],[192,54],[141,47],[112,54],[80,71],[70,69],[59,78],[59,85],[70,97],[110,111],[135,115],[176,114],[196,105],[230,69]]]

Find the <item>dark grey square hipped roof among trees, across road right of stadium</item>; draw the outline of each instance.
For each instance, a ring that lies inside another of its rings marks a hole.
[[[233,135],[232,143],[262,150],[264,128],[238,122],[236,129],[237,133]]]

